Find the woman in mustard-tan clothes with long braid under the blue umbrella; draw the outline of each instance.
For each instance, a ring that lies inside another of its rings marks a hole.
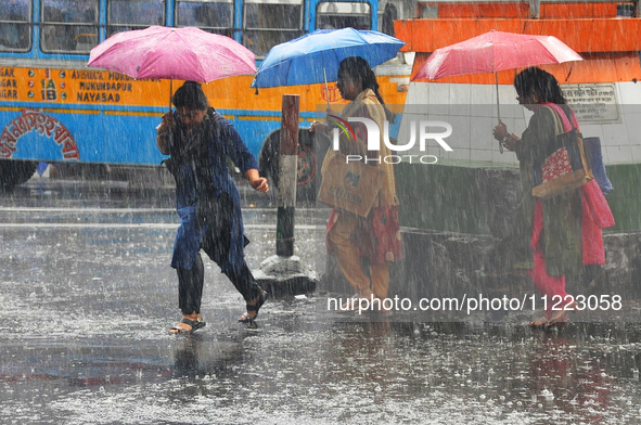
[[[343,99],[350,101],[341,113],[341,118],[370,118],[376,123],[380,129],[384,128],[386,114],[389,116],[392,114],[384,106],[374,72],[364,59],[351,56],[343,60],[338,67],[336,87]],[[360,155],[361,158],[364,158],[366,155],[369,158],[374,158],[386,157],[390,154],[389,149],[383,143],[383,131],[381,131],[380,151],[368,153],[366,126],[361,123],[351,123],[351,127],[356,140],[342,133],[339,138],[342,154]],[[309,130],[329,133],[331,127],[313,121]],[[322,173],[325,176],[333,172],[328,169],[333,154],[335,152],[330,151],[323,163]],[[385,176],[372,212],[368,218],[360,218],[347,210],[334,208],[328,222],[326,243],[329,252],[336,256],[341,270],[356,291],[354,298],[367,298],[370,301],[377,298],[382,301],[387,297],[389,288],[388,261],[399,259],[400,256],[400,226],[398,224],[398,198],[396,197],[393,165],[384,160],[375,164],[376,167],[385,171]],[[375,210],[382,211],[382,214],[375,215]],[[377,226],[380,224],[377,221],[381,220],[385,222],[385,226]],[[374,227],[381,229],[376,236],[374,236]],[[363,272],[359,255],[369,259],[370,276]],[[351,302],[351,306],[344,306],[342,309],[346,310],[349,307],[354,309],[354,306],[355,302]],[[358,302],[356,306],[358,307]],[[375,306],[375,309],[380,308],[382,308],[381,302]]]

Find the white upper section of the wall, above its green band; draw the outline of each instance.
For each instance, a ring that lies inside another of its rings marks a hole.
[[[580,123],[585,137],[601,138],[605,165],[641,163],[641,82],[616,85],[619,121],[593,125]],[[520,106],[514,88],[499,86],[500,117],[511,132],[521,134],[531,113]],[[409,140],[407,120],[430,119],[450,123],[447,139],[453,152],[432,143],[426,153],[441,164],[484,162],[488,166],[516,166],[512,153],[501,154],[491,137],[497,125],[497,92],[492,85],[411,83],[398,140]],[[412,154],[420,154],[418,145]]]

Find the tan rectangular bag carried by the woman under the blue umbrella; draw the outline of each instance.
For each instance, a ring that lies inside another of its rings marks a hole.
[[[347,163],[345,155],[330,150],[322,166],[318,201],[367,217],[383,186],[384,175],[360,160]]]

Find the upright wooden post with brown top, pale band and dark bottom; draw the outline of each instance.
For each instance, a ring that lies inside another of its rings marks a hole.
[[[283,94],[275,229],[275,254],[282,257],[294,255],[299,105],[300,96],[298,94]]]

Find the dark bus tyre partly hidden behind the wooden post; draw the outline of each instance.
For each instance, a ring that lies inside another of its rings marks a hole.
[[[330,138],[310,133],[308,129],[298,130],[298,159],[296,176],[297,201],[316,201],[321,182],[321,165],[330,146]],[[280,130],[266,139],[260,150],[260,173],[271,180],[272,186],[279,184]]]

